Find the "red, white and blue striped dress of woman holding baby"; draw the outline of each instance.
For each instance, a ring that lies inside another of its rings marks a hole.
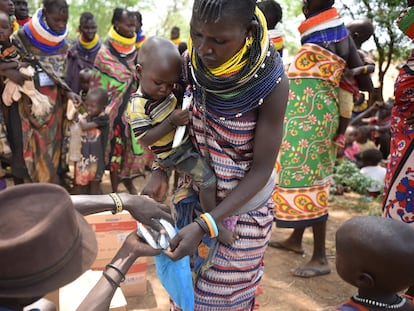
[[[220,202],[250,169],[256,120],[222,121],[209,117],[205,124],[197,105],[190,111],[191,136],[203,156],[207,151],[210,154]],[[263,275],[263,256],[271,235],[272,220],[273,201],[270,198],[254,211],[225,219],[226,227],[240,237],[231,246],[216,239],[213,243],[208,238],[203,240],[196,260],[198,277],[194,288],[194,310],[253,309],[255,290]],[[176,306],[172,308],[179,310]]]

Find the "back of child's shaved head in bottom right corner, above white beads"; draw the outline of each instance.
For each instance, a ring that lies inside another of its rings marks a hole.
[[[336,232],[336,269],[360,294],[386,295],[414,284],[414,228],[379,216],[354,217]]]

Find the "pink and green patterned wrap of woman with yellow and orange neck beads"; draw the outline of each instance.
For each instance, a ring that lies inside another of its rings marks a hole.
[[[111,172],[118,172],[121,179],[143,175],[145,167],[151,166],[153,160],[150,152],[139,156],[132,152],[127,105],[131,94],[137,90],[135,62],[136,52],[121,57],[108,42],[102,45],[95,59],[95,69],[99,73],[94,77],[94,84],[109,94],[105,110],[110,124],[105,163]]]

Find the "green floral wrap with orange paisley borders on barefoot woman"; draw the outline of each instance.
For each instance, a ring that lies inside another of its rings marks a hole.
[[[345,61],[304,44],[291,64],[289,101],[273,194],[279,227],[303,228],[326,220],[338,127],[337,92]]]

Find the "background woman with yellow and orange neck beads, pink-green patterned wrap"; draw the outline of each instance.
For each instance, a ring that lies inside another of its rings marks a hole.
[[[108,91],[106,113],[110,120],[109,141],[105,162],[110,171],[112,191],[116,192],[122,181],[129,193],[136,194],[132,178],[141,176],[145,166],[151,165],[151,155],[136,156],[132,152],[131,132],[126,108],[129,97],[137,90],[135,66],[137,20],[134,12],[116,8],[112,27],[95,59],[94,84]]]

